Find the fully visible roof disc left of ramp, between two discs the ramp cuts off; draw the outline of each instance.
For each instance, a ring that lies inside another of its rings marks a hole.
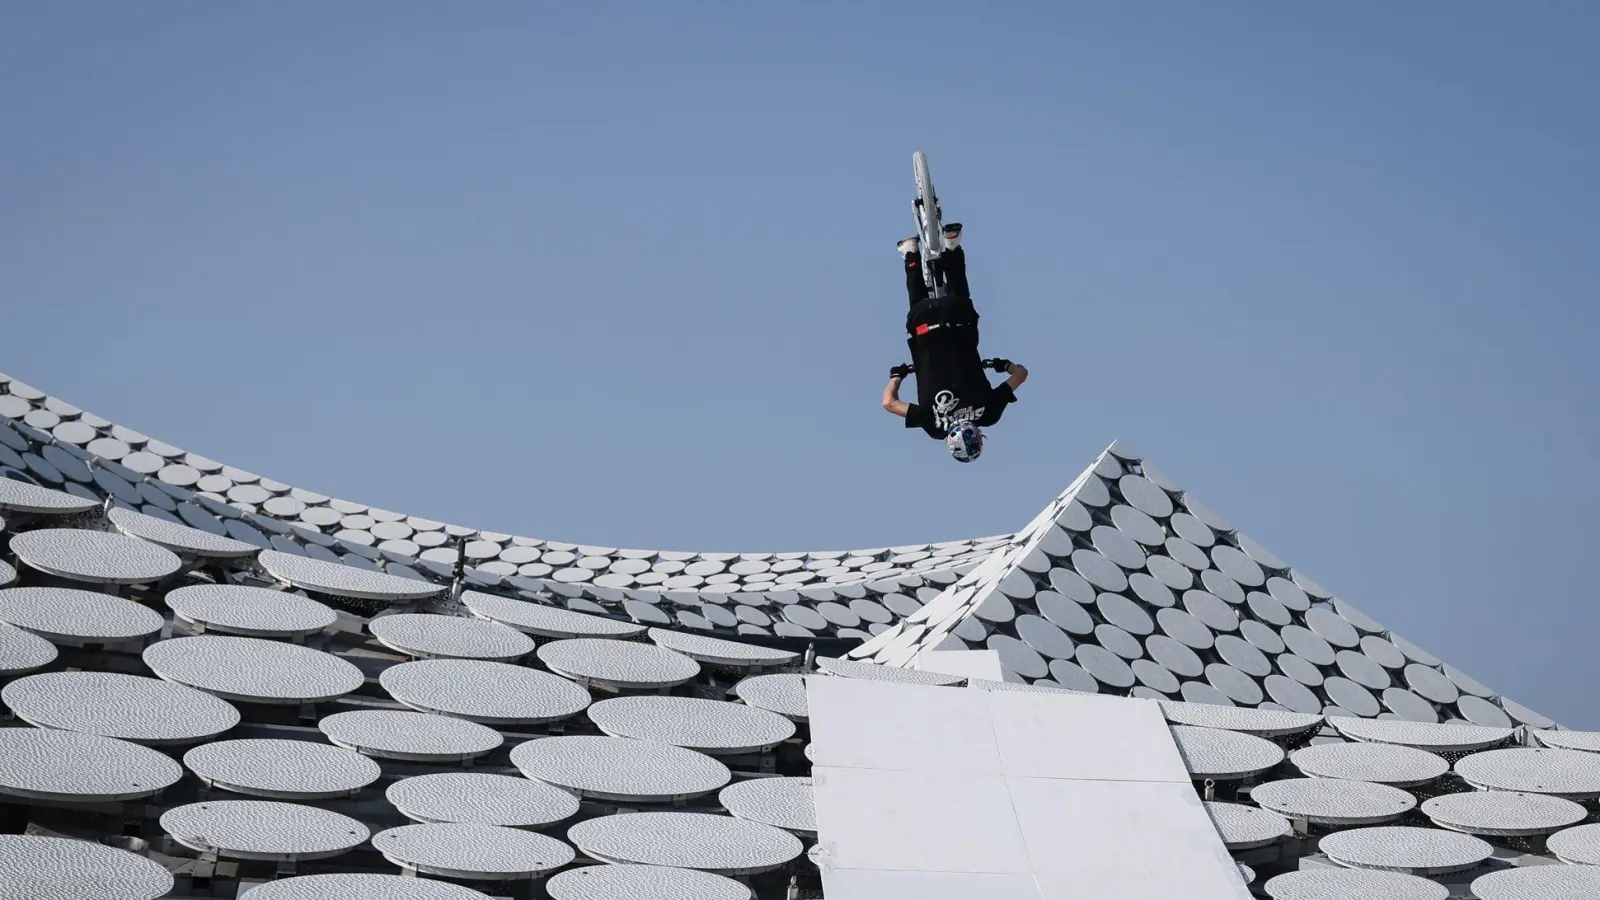
[[[778,713],[699,697],[613,697],[589,706],[589,719],[611,737],[710,754],[765,751],[795,733]]]

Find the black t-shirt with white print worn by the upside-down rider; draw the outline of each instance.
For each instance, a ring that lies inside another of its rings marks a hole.
[[[939,327],[925,330],[928,325]],[[960,423],[986,428],[1000,421],[1006,404],[1016,402],[1010,384],[989,384],[978,354],[978,312],[970,299],[918,304],[907,315],[906,330],[917,367],[917,402],[906,410],[906,428],[944,440]]]

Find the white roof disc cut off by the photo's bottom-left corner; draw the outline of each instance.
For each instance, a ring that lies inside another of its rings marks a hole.
[[[94,841],[0,834],[0,860],[19,900],[155,900],[173,889],[160,863]]]

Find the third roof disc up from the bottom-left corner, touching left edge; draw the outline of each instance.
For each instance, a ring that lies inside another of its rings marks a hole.
[[[42,673],[5,685],[0,698],[30,725],[146,745],[214,738],[240,717],[210,693],[120,673]]]

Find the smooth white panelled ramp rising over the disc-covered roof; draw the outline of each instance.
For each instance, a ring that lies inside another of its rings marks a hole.
[[[806,693],[827,900],[1250,900],[1154,701]]]

